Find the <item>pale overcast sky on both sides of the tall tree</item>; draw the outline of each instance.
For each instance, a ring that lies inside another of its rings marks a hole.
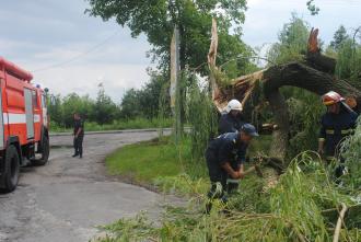
[[[319,27],[326,43],[340,24],[350,32],[361,25],[361,0],[316,0],[317,16],[305,3],[248,0],[244,41],[252,46],[276,42],[291,12]],[[150,46],[144,36],[131,38],[129,30],[85,15],[86,7],[84,0],[1,0],[0,56],[33,71],[34,82],[53,93],[95,96],[102,82],[119,102],[125,90],[147,82]]]

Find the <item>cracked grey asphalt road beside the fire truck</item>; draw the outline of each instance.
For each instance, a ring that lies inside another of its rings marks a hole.
[[[104,158],[118,147],[156,135],[88,135],[83,159],[71,158],[71,136],[50,137],[49,163],[22,169],[16,191],[0,194],[0,241],[82,242],[100,233],[97,226],[140,210],[155,218],[164,196],[107,176]]]

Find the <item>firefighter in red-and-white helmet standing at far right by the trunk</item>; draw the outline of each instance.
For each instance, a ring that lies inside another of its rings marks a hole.
[[[327,107],[327,113],[322,116],[321,132],[318,139],[318,153],[330,161],[338,159],[342,162],[339,155],[340,143],[345,137],[351,135],[356,127],[358,118],[346,103],[345,99],[337,92],[330,91],[323,95],[322,101]],[[340,165],[336,170],[336,176],[339,177],[343,173],[343,166]]]

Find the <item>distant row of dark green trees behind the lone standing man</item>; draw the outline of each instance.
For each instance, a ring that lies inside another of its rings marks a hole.
[[[48,96],[50,120],[61,127],[71,127],[73,113],[79,113],[88,122],[95,122],[100,125],[110,124],[118,119],[135,119],[138,117],[151,119],[159,115],[161,95],[165,100],[162,112],[168,115],[171,111],[166,83],[166,77],[156,72],[150,72],[150,81],[139,90],[128,90],[119,104],[116,104],[105,93],[102,83],[98,85],[95,100],[89,95],[80,96],[77,93],[70,93],[63,97],[59,94],[50,94]]]

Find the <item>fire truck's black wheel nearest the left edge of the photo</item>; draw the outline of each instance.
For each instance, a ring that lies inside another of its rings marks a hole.
[[[15,189],[19,182],[20,159],[18,149],[9,146],[5,151],[4,172],[2,176],[4,192],[10,193]]]

